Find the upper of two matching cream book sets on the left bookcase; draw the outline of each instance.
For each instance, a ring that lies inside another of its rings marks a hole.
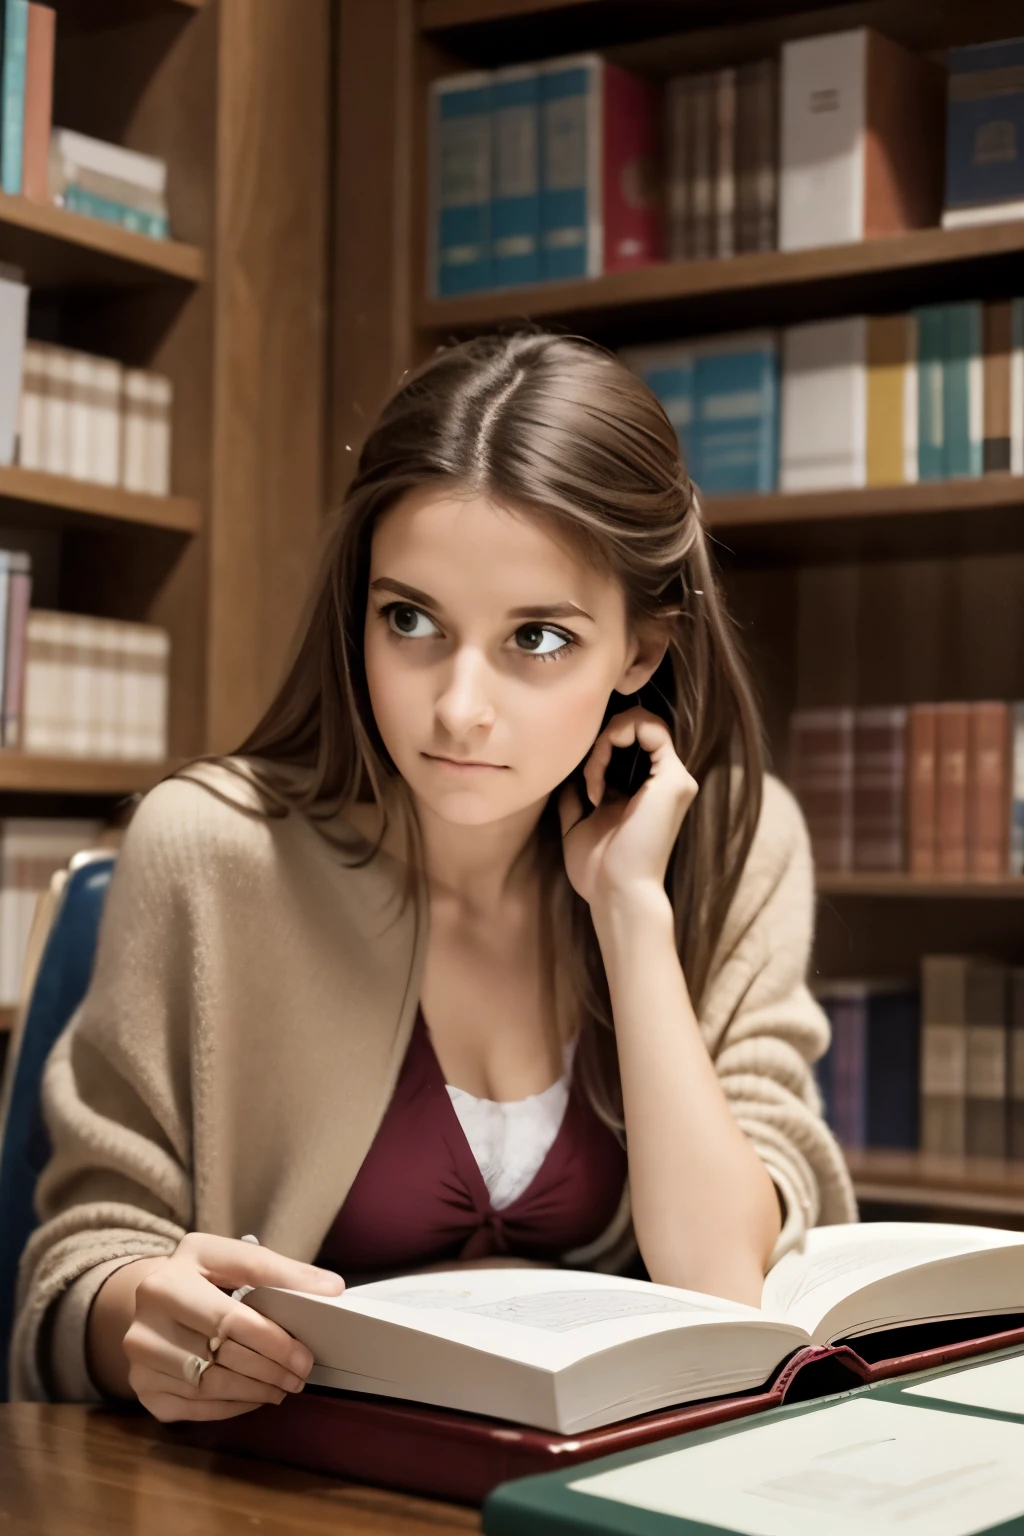
[[[43,341],[26,341],[17,461],[25,468],[166,496],[170,379]]]

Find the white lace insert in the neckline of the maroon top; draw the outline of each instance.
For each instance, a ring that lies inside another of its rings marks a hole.
[[[557,1083],[528,1098],[474,1098],[445,1084],[496,1210],[511,1206],[537,1177],[565,1118],[576,1040],[563,1049]]]

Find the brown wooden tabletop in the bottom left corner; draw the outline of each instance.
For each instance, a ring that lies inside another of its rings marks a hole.
[[[3,1536],[456,1536],[479,1510],[175,1444],[147,1415],[0,1404]]]

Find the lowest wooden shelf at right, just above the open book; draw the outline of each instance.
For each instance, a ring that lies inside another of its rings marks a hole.
[[[861,1201],[1024,1217],[1024,1163],[875,1147],[843,1155]]]

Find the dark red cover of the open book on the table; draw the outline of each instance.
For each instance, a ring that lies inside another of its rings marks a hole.
[[[1003,1332],[983,1338],[955,1336],[958,1330],[986,1324]],[[1021,1324],[1024,1316],[966,1319],[946,1326],[944,1333],[940,1326],[935,1336],[943,1335],[947,1342],[875,1361],[864,1356],[870,1355],[870,1342],[884,1339],[884,1333],[861,1342],[858,1349],[864,1353],[847,1344],[806,1346],[783,1361],[760,1392],[688,1402],[579,1435],[554,1435],[451,1409],[316,1387],[289,1395],[279,1407],[269,1404],[230,1419],[181,1421],[164,1425],[164,1430],[178,1442],[213,1452],[281,1461],[345,1481],[375,1482],[461,1504],[482,1504],[491,1488],[510,1478],[556,1471],[711,1424],[765,1413],[783,1402],[804,1402],[1024,1344]],[[898,1330],[892,1335],[897,1349],[898,1335],[906,1333]]]

